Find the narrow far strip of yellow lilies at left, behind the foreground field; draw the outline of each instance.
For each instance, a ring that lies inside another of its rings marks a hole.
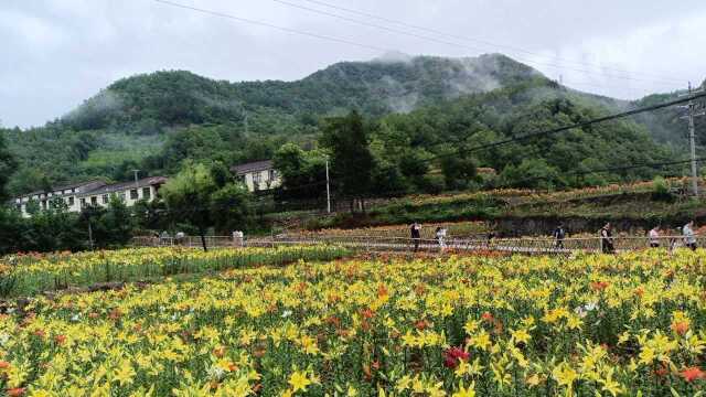
[[[207,253],[189,248],[140,248],[8,256],[0,258],[0,297],[255,265],[281,266],[297,260],[331,260],[345,254],[345,249],[323,246],[213,249]]]

